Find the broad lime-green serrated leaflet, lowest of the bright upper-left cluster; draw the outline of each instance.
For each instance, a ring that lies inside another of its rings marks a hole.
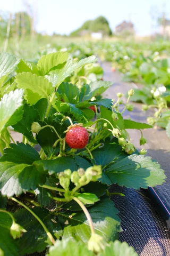
[[[36,98],[33,99],[34,104],[39,100],[37,100],[37,94],[41,98],[48,99],[49,94],[54,92],[54,88],[52,83],[48,82],[48,80],[42,76],[37,76],[36,74],[32,74],[29,72],[23,72],[16,75],[16,83],[18,83],[18,87],[31,90],[33,93],[36,93]],[[29,94],[28,92],[26,95]],[[30,103],[30,102],[28,102]],[[32,102],[31,102],[32,103]]]

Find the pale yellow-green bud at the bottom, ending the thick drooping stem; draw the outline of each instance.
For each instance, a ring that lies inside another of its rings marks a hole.
[[[89,251],[98,254],[99,252],[105,249],[106,242],[103,237],[99,236],[98,234],[92,233],[91,237],[88,241],[88,249]]]

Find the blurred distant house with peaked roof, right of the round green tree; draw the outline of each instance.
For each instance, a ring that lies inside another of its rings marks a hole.
[[[132,35],[134,34],[134,25],[130,21],[123,21],[119,25],[115,27],[115,35],[123,35],[123,34],[128,34]]]

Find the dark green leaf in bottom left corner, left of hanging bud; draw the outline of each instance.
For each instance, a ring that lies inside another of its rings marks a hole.
[[[3,250],[5,256],[18,256],[19,246],[10,234],[11,226],[11,217],[4,212],[0,212],[0,248]]]

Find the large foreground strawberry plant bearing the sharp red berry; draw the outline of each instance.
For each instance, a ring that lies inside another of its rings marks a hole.
[[[117,241],[121,220],[108,189],[147,188],[166,177],[130,142],[126,129],[152,127],[123,118],[133,90],[120,112],[121,93],[116,102],[100,97],[112,82],[67,82],[95,61],[55,52],[36,65],[0,55],[2,255],[137,255]],[[11,126],[22,142],[12,138]]]

